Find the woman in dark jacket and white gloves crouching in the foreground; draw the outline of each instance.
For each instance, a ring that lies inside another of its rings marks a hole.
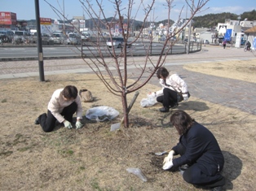
[[[178,131],[179,143],[164,159],[164,170],[180,167],[183,179],[196,188],[222,190],[224,158],[210,130],[196,123],[185,111],[175,111],[170,123]],[[174,155],[179,154],[178,158]]]

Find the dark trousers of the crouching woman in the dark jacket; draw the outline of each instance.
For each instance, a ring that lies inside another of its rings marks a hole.
[[[180,155],[183,155],[186,149],[179,143],[177,151]],[[220,171],[212,171],[210,174],[205,173],[205,167],[208,167],[208,171],[210,171],[209,164],[192,163],[188,164],[188,166],[188,169],[183,172],[183,179],[190,184],[194,184],[196,187],[214,188],[225,184],[225,178],[221,175]]]

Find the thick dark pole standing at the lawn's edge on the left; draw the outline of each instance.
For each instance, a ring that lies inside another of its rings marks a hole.
[[[39,75],[40,81],[44,81],[44,71],[43,71],[43,54],[42,54],[42,36],[40,28],[40,12],[39,12],[39,0],[35,0],[36,9],[36,20],[37,20],[37,34],[38,34],[38,65],[39,65]]]

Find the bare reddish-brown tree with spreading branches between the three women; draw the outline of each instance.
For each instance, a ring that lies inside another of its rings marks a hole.
[[[197,12],[201,11],[209,0],[185,0],[187,5],[185,4],[184,6],[189,7],[191,15],[179,28],[173,28],[172,31],[167,30],[166,39],[162,43],[161,52],[158,56],[152,56],[151,52],[152,46],[150,45],[152,45],[154,37],[149,34],[147,39],[143,38],[143,30],[148,28],[148,20],[150,14],[152,14],[156,2],[155,0],[109,0],[108,4],[113,6],[113,15],[109,15],[108,10],[105,10],[103,2],[106,2],[106,0],[79,1],[94,26],[92,35],[94,37],[84,42],[86,49],[90,51],[90,55],[84,55],[82,59],[90,69],[95,72],[111,93],[121,97],[124,126],[128,128],[127,94],[133,93],[142,88],[143,85],[146,85],[148,80],[157,72],[157,69],[163,66],[166,62],[166,57],[175,43],[175,41],[171,39],[173,39],[173,37],[179,37],[183,28],[189,24],[192,17],[196,15]],[[145,2],[150,3],[145,4]],[[49,2],[47,3],[51,6]],[[163,5],[168,12],[168,15],[166,15],[168,28],[170,28],[171,25],[170,13],[173,9],[173,3],[174,0],[166,0]],[[60,15],[60,18],[67,19],[62,11],[58,11],[55,7],[52,8]],[[136,35],[134,35],[130,28],[134,26],[139,11],[143,11],[144,16],[141,27],[137,30]],[[182,20],[180,16],[182,11],[183,8],[180,10],[179,20]],[[112,19],[109,20],[109,18]],[[120,49],[115,49],[113,41],[110,42],[112,43],[110,48],[106,46],[107,39],[110,38],[113,40],[114,38],[113,24],[118,24],[118,28],[121,29],[121,37],[124,42]],[[108,31],[108,37],[105,35],[104,29]],[[135,43],[143,44],[143,56],[133,56],[132,50]]]

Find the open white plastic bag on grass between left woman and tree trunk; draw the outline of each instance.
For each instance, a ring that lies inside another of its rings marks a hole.
[[[96,121],[112,120],[119,115],[113,107],[96,106],[86,111],[86,118]]]

